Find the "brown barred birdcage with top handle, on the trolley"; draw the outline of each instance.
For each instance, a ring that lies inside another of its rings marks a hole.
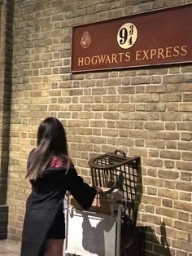
[[[124,151],[108,152],[89,160],[93,185],[108,188],[103,193],[111,193],[115,188],[121,194],[124,205],[123,217],[127,226],[134,226],[137,218],[135,197],[140,157],[127,157]]]

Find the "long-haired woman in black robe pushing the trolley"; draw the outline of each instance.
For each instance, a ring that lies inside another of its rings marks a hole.
[[[101,188],[89,187],[68,158],[65,130],[48,117],[37,131],[37,148],[28,156],[26,177],[32,184],[28,196],[21,256],[62,256],[65,225],[63,197],[68,190],[86,210]]]

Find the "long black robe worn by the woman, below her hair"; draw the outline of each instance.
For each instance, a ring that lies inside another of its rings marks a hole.
[[[86,210],[94,200],[95,188],[91,188],[71,168],[49,168],[42,178],[32,182],[28,196],[21,245],[21,256],[41,256],[46,234],[63,207],[63,197],[69,191]],[[64,225],[64,223],[63,223]]]

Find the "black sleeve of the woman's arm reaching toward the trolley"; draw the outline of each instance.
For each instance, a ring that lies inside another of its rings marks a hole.
[[[75,169],[68,170],[67,189],[72,196],[85,210],[89,209],[94,201],[96,189],[90,187],[84,180],[78,176]]]

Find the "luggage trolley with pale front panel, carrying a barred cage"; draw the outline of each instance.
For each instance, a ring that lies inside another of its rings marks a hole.
[[[120,256],[124,230],[136,225],[134,204],[140,157],[120,150],[89,160],[92,184],[103,188],[89,210],[68,196],[65,255]]]

